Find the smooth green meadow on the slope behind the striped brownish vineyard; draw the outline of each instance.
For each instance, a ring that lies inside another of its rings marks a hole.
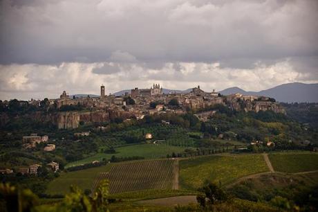
[[[88,164],[93,161],[102,161],[103,158],[110,159],[112,155],[115,157],[133,157],[140,156],[145,159],[156,159],[167,157],[167,154],[172,154],[172,152],[178,153],[183,152],[185,148],[174,146],[174,145],[165,145],[165,144],[138,144],[138,145],[127,145],[120,148],[116,148],[118,153],[116,154],[104,154],[97,153],[91,157],[75,161],[66,165],[66,168],[71,166],[79,166],[81,164]]]

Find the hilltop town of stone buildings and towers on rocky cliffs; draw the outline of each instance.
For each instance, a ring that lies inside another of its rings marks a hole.
[[[155,85],[150,89],[131,89],[122,96],[105,94],[105,87],[100,87],[99,97],[70,98],[66,91],[57,99],[30,100],[28,104],[40,107],[41,104],[48,105],[48,108],[57,109],[55,116],[50,116],[53,123],[59,129],[77,128],[79,123],[101,123],[113,118],[142,119],[145,115],[153,114],[185,114],[194,112],[201,121],[212,116],[214,105],[224,105],[236,111],[259,112],[273,111],[285,113],[283,107],[276,103],[273,98],[265,96],[245,96],[232,94],[222,96],[216,91],[207,92],[194,87],[186,94],[163,94],[162,87]],[[6,104],[6,102],[3,102]],[[20,101],[20,104],[24,104]],[[212,112],[211,112],[212,110]],[[205,112],[209,111],[209,112]],[[3,118],[6,120],[6,118]]]

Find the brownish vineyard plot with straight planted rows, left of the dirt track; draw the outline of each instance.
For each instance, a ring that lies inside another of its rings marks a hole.
[[[104,178],[109,179],[110,193],[145,189],[169,189],[174,180],[174,160],[149,160],[121,163],[113,166]],[[103,177],[97,177],[98,182]]]

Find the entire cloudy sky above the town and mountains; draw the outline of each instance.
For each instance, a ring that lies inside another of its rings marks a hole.
[[[0,0],[0,99],[318,82],[316,0]]]

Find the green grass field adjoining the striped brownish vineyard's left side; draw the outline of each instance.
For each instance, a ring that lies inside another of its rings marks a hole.
[[[107,164],[106,166],[62,173],[61,176],[53,179],[53,181],[48,184],[46,193],[50,195],[65,194],[69,192],[71,185],[79,186],[83,191],[86,188],[91,189],[97,175],[109,171],[112,165],[113,164]]]

